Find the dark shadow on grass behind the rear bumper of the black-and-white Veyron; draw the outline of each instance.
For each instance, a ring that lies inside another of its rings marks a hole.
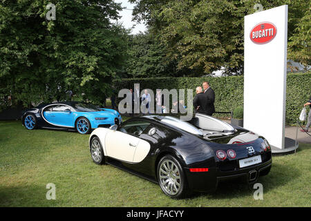
[[[273,189],[278,189],[292,180],[296,180],[301,174],[296,169],[272,162],[272,169],[268,175],[258,178],[256,183],[263,184],[264,193]],[[248,184],[242,177],[220,182],[213,193],[194,193],[191,198],[200,196],[209,196],[212,199],[232,199],[252,195],[256,189],[254,184]]]

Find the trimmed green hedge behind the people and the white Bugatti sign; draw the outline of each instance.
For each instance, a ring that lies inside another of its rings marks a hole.
[[[209,81],[211,88],[215,91],[216,111],[233,111],[236,107],[243,106],[243,76],[122,79],[121,81],[115,81],[114,84],[117,91],[122,88],[134,88],[134,84],[139,83],[140,90],[149,88],[156,92],[156,89],[193,89],[195,95],[196,87],[202,86],[203,81]],[[311,95],[310,83],[311,72],[288,74],[286,124],[296,124],[296,119],[299,117],[303,104],[308,101]],[[185,101],[187,101],[187,90],[185,90],[185,96]]]

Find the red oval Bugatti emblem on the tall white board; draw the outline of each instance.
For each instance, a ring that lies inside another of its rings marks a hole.
[[[267,44],[276,36],[276,27],[273,23],[258,23],[250,32],[249,37],[255,44]]]

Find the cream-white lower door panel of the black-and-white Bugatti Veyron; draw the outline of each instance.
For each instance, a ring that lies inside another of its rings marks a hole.
[[[120,131],[109,131],[106,135],[105,146],[109,157],[126,162],[133,162],[135,150],[140,139]]]

